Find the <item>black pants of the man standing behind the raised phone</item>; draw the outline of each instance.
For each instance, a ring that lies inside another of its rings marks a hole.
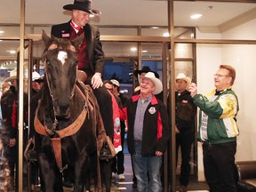
[[[188,186],[190,174],[190,152],[194,141],[192,132],[176,134],[176,164],[178,162],[179,148],[181,151],[180,186]]]

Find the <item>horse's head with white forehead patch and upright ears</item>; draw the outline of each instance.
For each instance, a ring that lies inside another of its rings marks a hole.
[[[57,117],[70,117],[70,104],[76,85],[76,46],[84,36],[74,41],[42,35],[46,46],[44,52],[44,76],[52,96],[53,109]]]

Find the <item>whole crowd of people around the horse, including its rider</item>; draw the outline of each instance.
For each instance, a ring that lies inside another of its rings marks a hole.
[[[163,84],[160,76],[148,66],[135,70],[134,77],[137,78],[139,84],[131,97],[120,92],[121,84],[117,79],[108,79],[103,82],[104,52],[100,43],[100,31],[99,28],[88,23],[90,14],[99,11],[92,9],[90,0],[75,0],[74,4],[67,4],[63,8],[71,12],[71,20],[53,25],[51,34],[70,40],[84,34],[83,43],[76,51],[77,66],[79,70],[87,74],[84,84],[91,85],[100,106],[100,115],[106,133],[114,146],[116,145],[116,156],[108,161],[100,161],[106,191],[110,192],[111,179],[116,178],[116,175],[119,181],[125,180],[125,133],[127,133],[127,147],[132,159],[132,187],[141,192],[162,191],[163,155],[168,148],[172,129],[176,134],[176,164],[178,164],[179,148],[181,151],[179,190],[180,192],[188,191],[191,146],[196,137],[196,108],[200,108],[197,140],[203,146],[206,182],[212,192],[235,192],[236,136],[239,133],[236,124],[238,101],[236,93],[232,90],[236,79],[235,68],[220,65],[214,75],[216,89],[205,96],[197,93],[196,84],[191,83],[191,78],[181,71],[175,79],[175,127],[172,127],[170,116],[174,111],[171,110],[171,103],[164,104]],[[39,92],[42,82],[42,76],[36,71],[33,72],[31,119],[29,119],[32,127],[30,127],[29,140],[33,140],[35,134],[33,117],[42,94]],[[4,146],[5,156],[10,166],[13,185],[18,143],[17,85],[17,74],[11,74],[2,84],[1,96],[2,128],[5,128],[8,135],[8,142]],[[24,107],[24,116],[28,116],[26,114],[28,103],[25,103]],[[114,121],[113,116],[115,116]],[[32,165],[31,172],[31,190],[34,190],[38,175],[40,175],[37,164]],[[72,188],[74,184],[72,179],[74,179],[72,171],[64,172],[64,186]]]

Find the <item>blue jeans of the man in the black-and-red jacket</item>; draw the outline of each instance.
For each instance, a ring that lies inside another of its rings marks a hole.
[[[141,142],[135,142],[135,151],[132,161],[138,190],[140,192],[162,191],[160,175],[162,156],[141,156]]]

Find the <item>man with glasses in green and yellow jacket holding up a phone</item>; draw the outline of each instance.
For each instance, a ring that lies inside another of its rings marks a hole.
[[[188,91],[200,108],[197,139],[203,143],[204,175],[211,192],[236,192],[235,154],[239,110],[232,85],[236,70],[220,65],[214,74],[215,90],[205,96],[197,93],[196,84]]]

